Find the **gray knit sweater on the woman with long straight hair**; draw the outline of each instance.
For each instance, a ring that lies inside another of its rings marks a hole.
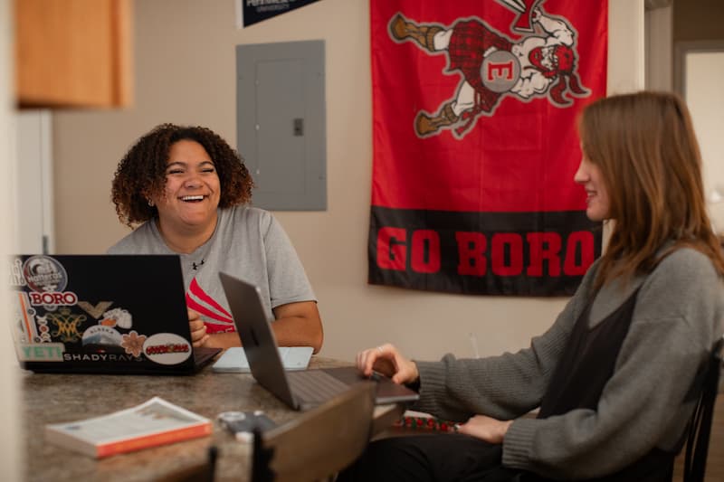
[[[598,292],[590,326],[641,286],[628,335],[597,409],[546,420],[518,418],[537,408],[576,319],[592,295],[598,262],[556,322],[530,347],[481,359],[417,362],[420,401],[414,410],[454,421],[481,413],[512,420],[503,465],[547,477],[588,478],[615,472],[657,447],[671,450],[693,404],[683,402],[700,364],[722,336],[724,289],[710,260],[680,249],[645,277],[612,282]]]

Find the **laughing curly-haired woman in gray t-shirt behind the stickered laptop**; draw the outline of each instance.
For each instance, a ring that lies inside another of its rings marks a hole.
[[[138,227],[109,252],[179,255],[195,346],[240,344],[221,270],[261,288],[279,345],[319,352],[310,282],[279,222],[247,205],[252,185],[241,156],[212,130],[158,126],[119,163],[111,197],[119,220]]]

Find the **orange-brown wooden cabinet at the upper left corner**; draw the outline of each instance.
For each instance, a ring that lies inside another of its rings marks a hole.
[[[128,106],[131,1],[14,0],[18,106]]]

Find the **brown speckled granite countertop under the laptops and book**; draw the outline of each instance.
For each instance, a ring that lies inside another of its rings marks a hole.
[[[310,367],[343,366],[313,356]],[[246,373],[214,373],[210,366],[185,376],[43,374],[21,375],[24,428],[24,479],[157,480],[202,465],[207,450],[219,450],[216,480],[243,480],[249,472],[250,445],[236,441],[216,421],[222,411],[264,411],[278,424],[290,421],[291,411]],[[214,421],[210,437],[186,440],[152,449],[95,459],[44,439],[47,423],[107,415],[148,401],[153,396],[176,403]],[[247,476],[248,477],[248,476]]]

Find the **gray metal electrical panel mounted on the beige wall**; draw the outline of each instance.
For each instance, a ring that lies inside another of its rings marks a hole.
[[[237,45],[236,129],[253,205],[325,211],[324,41]]]

